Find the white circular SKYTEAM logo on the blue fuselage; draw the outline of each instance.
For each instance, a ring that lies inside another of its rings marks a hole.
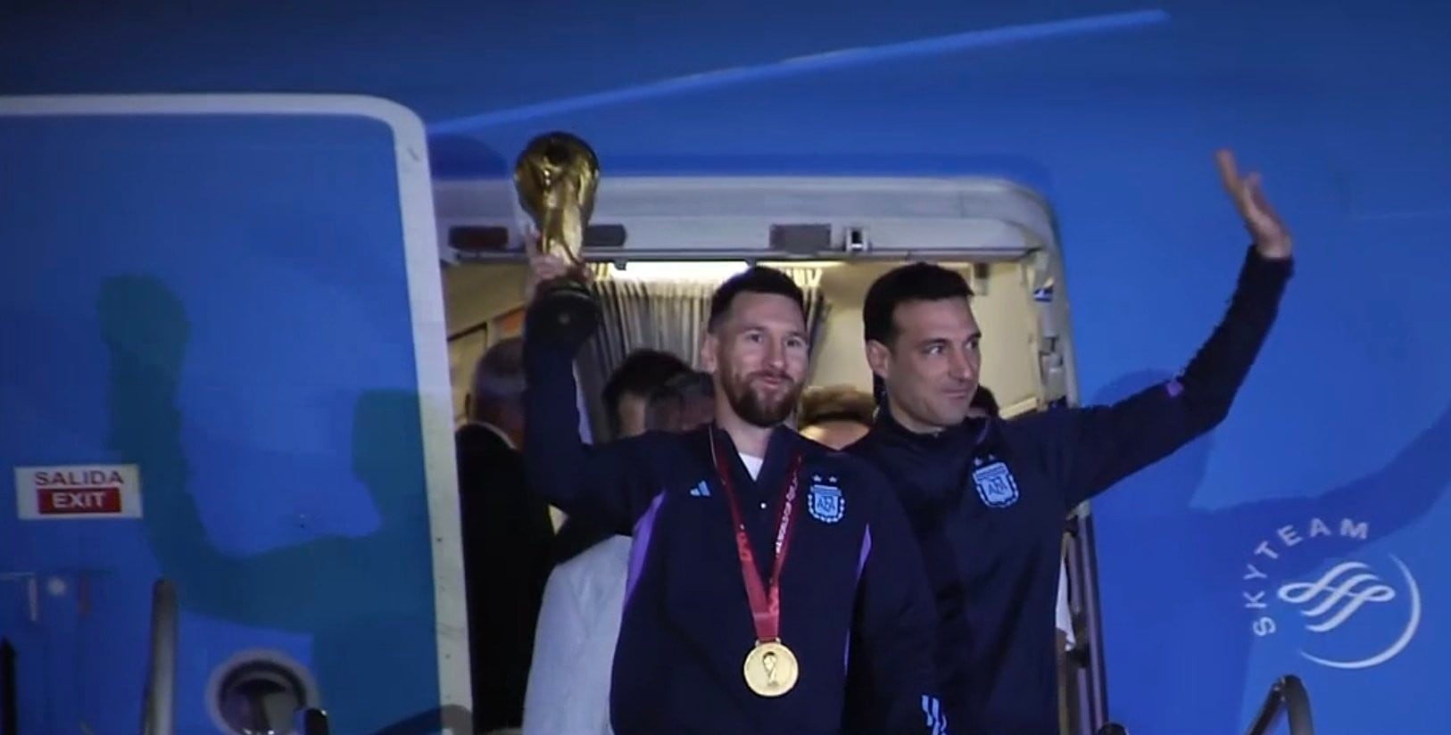
[[[1254,612],[1251,632],[1264,638],[1299,631],[1300,655],[1329,668],[1371,668],[1405,651],[1421,626],[1421,587],[1399,557],[1357,554],[1309,562],[1316,542],[1323,548],[1332,539],[1365,541],[1368,531],[1365,522],[1349,518],[1339,528],[1315,518],[1261,541],[1244,574],[1245,607]]]

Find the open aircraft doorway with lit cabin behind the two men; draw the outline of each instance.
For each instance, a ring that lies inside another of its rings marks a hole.
[[[434,186],[454,415],[466,420],[473,367],[522,325],[528,219],[511,181]],[[710,291],[749,264],[784,268],[807,293],[808,386],[872,390],[862,341],[871,283],[910,261],[959,270],[982,326],[982,386],[1006,418],[1077,403],[1062,258],[1052,212],[1035,193],[987,178],[601,178],[583,257],[604,326],[580,351],[582,432],[608,436],[601,391],[634,348],[699,362]],[[466,491],[460,487],[460,491]],[[557,522],[557,520],[556,520]],[[1091,522],[1065,519],[1072,649],[1065,726],[1106,722]]]

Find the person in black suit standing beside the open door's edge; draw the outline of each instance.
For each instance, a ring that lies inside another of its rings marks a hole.
[[[528,489],[524,457],[524,341],[479,360],[454,435],[473,718],[477,732],[519,728],[534,628],[553,564],[548,503]]]

